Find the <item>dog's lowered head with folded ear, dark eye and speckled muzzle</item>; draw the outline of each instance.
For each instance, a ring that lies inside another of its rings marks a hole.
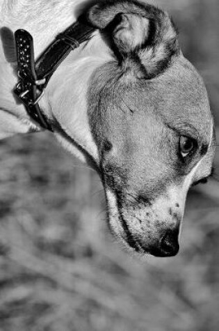
[[[87,19],[115,57],[95,70],[88,97],[110,229],[133,251],[173,256],[188,189],[211,174],[206,89],[167,13],[104,1]]]

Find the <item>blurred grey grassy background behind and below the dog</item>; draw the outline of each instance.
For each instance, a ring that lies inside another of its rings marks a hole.
[[[177,22],[219,125],[218,0],[153,3]],[[0,330],[218,331],[216,180],[188,194],[179,255],[138,261],[106,229],[95,171],[49,133],[0,144]]]

